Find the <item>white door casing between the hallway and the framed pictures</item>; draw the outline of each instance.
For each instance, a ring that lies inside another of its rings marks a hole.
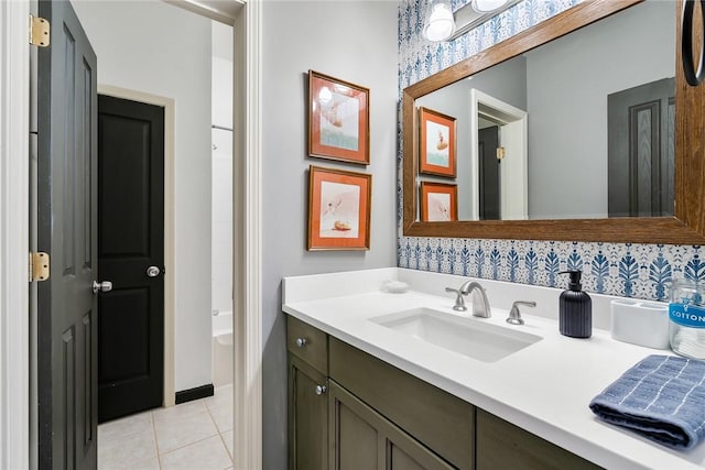
[[[234,468],[262,468],[262,0],[232,26]]]

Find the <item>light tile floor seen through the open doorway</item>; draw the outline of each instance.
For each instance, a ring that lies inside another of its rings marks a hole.
[[[98,426],[99,470],[232,467],[232,385],[215,395]]]

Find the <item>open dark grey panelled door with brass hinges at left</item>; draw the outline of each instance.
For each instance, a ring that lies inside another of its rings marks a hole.
[[[40,1],[52,25],[37,55],[39,468],[97,468],[96,54],[67,1]]]

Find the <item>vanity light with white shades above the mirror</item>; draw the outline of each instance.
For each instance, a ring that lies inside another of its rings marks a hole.
[[[433,42],[453,41],[521,0],[470,0],[455,13],[448,0],[430,0],[423,35]]]

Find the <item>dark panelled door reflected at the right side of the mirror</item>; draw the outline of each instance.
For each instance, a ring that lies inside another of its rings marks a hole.
[[[607,97],[609,217],[673,215],[674,97],[673,78]]]

